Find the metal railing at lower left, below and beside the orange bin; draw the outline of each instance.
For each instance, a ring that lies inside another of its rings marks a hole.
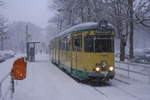
[[[0,80],[0,100],[13,97],[14,81],[11,78],[11,74],[8,73]]]

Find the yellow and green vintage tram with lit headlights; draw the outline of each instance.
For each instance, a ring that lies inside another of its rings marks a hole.
[[[79,80],[113,79],[114,36],[106,20],[75,25],[50,39],[51,62]]]

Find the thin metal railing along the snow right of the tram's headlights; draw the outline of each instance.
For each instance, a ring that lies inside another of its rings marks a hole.
[[[148,82],[150,83],[150,65],[124,61],[115,61],[115,62],[116,62],[116,69],[126,71],[128,74],[127,75],[128,79],[131,77],[130,74],[134,73],[148,77]]]

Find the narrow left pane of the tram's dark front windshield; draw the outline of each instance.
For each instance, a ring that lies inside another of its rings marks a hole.
[[[94,39],[92,36],[86,36],[84,39],[85,52],[93,52],[94,51]]]

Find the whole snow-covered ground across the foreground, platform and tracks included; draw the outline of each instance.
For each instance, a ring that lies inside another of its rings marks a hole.
[[[1,70],[10,67],[10,62],[11,59],[0,64]],[[27,71],[25,80],[15,82],[12,100],[150,100],[148,83],[129,79],[126,84],[114,79],[106,86],[81,84],[51,64],[47,55],[37,56],[35,63],[28,63]],[[116,78],[127,80],[119,75]],[[8,97],[5,100],[11,100]]]

